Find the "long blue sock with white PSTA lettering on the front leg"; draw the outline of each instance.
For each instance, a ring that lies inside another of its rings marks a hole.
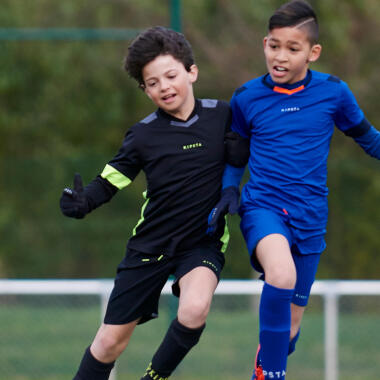
[[[280,289],[264,283],[260,300],[260,358],[268,379],[285,379],[293,293],[294,289]]]

